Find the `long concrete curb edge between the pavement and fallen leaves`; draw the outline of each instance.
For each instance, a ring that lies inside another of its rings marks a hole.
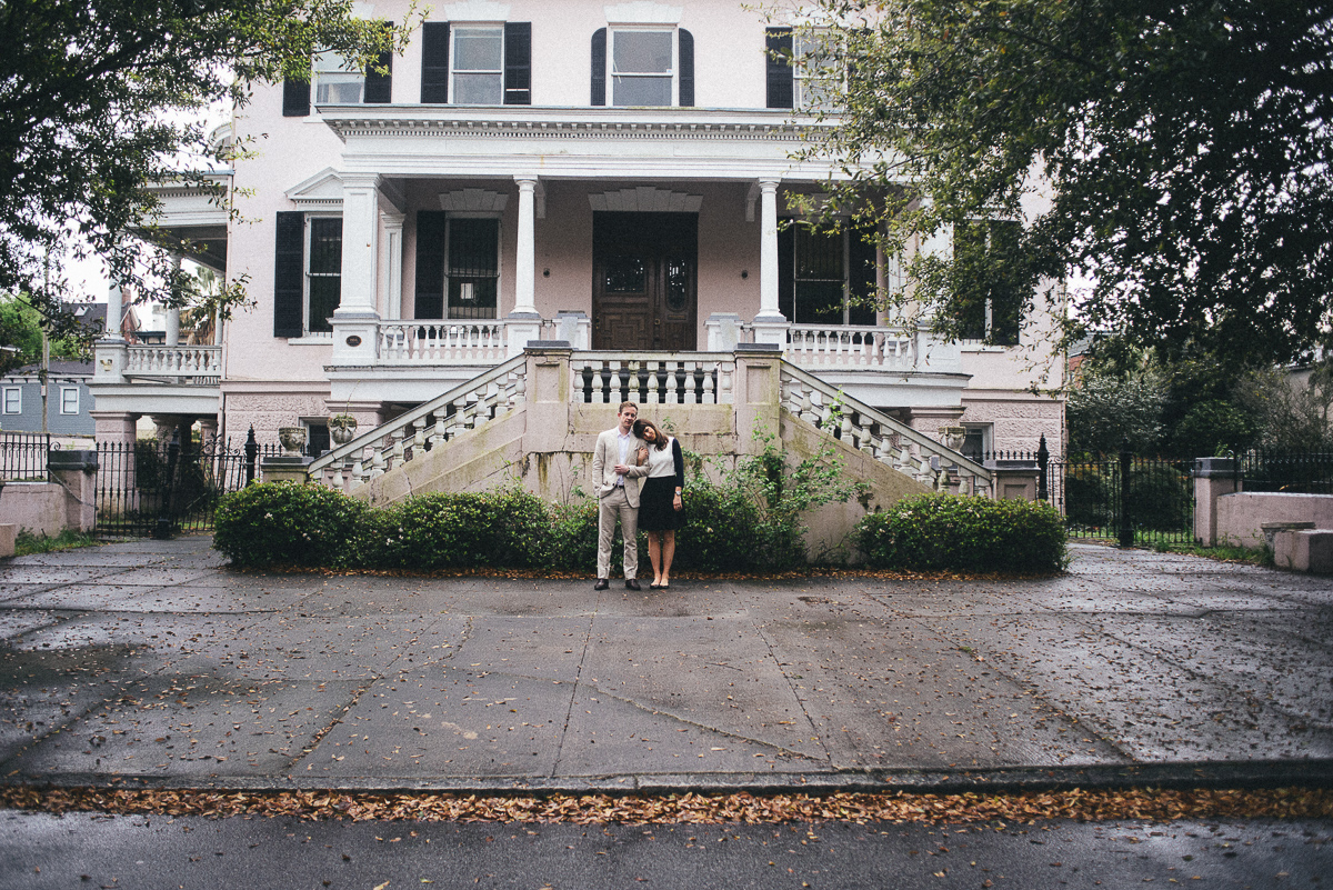
[[[36,779],[36,777],[33,777]],[[1026,766],[996,770],[873,770],[772,775],[762,773],[591,775],[569,778],[351,779],[295,777],[185,781],[181,777],[109,777],[72,773],[0,786],[105,790],[208,790],[231,793],[335,791],[343,794],[476,794],[487,797],[669,794],[1014,794],[1144,789],[1333,787],[1333,758],[1308,761],[1178,762],[1114,766]]]

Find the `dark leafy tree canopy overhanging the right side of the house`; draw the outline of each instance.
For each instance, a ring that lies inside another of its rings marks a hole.
[[[1005,249],[916,261],[941,330],[996,282],[1030,302],[1038,278],[1081,273],[1096,284],[1072,294],[1069,336],[1194,341],[1234,361],[1329,342],[1333,4],[818,7],[845,53],[821,65],[844,103],[809,148],[846,159],[832,207],[873,219],[889,249],[1025,221]],[[881,199],[858,203],[868,192]]]

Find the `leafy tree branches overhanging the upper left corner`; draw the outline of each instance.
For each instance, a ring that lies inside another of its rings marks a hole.
[[[7,0],[0,3],[0,290],[27,292],[55,324],[67,284],[44,274],[52,253],[96,253],[112,280],[180,304],[187,276],[159,254],[147,266],[127,240],[171,177],[213,188],[197,171],[219,157],[201,121],[243,105],[256,83],[309,77],[333,49],[371,67],[407,27],[356,19],[352,0]],[[219,195],[221,197],[221,195]],[[155,238],[171,248],[165,233]],[[177,245],[179,246],[179,245]],[[241,298],[239,290],[224,297]]]

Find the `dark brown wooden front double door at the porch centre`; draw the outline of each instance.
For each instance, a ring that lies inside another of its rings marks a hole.
[[[696,349],[698,215],[593,213],[593,349]]]

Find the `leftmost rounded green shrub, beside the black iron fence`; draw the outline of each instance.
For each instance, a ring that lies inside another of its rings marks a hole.
[[[321,485],[249,485],[217,505],[213,548],[243,566],[344,565],[367,513],[364,502]]]

